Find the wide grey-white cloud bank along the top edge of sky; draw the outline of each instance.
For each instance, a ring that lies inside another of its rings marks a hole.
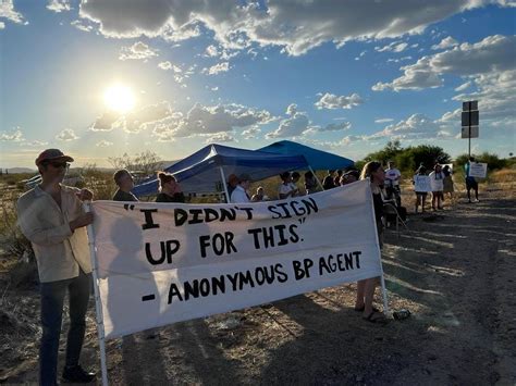
[[[280,46],[299,55],[325,41],[341,47],[356,39],[420,34],[430,24],[490,3],[511,5],[505,0],[364,0],[354,5],[340,1],[89,0],[81,3],[79,15],[98,23],[101,34],[110,37],[184,39],[197,36],[198,24],[202,24],[226,49]]]

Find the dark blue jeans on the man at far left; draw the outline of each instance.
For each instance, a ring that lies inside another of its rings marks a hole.
[[[63,316],[63,302],[66,289],[70,300],[70,331],[66,340],[66,365],[78,364],[86,329],[91,274],[79,269],[77,277],[65,281],[41,283],[41,326],[39,347],[39,383],[56,385],[58,372],[59,337]]]

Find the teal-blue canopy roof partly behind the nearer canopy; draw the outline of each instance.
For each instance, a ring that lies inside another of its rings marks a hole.
[[[311,169],[316,171],[346,169],[355,164],[354,161],[347,158],[317,150],[309,146],[292,142],[290,140],[280,140],[258,150],[277,154],[303,154]]]

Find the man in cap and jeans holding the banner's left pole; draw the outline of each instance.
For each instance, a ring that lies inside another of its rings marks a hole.
[[[25,192],[16,203],[17,224],[36,256],[41,296],[42,335],[39,347],[39,382],[57,384],[59,338],[65,292],[70,299],[70,329],[66,340],[65,382],[89,383],[95,373],[78,363],[86,329],[91,285],[86,226],[94,214],[82,201],[93,192],[62,185],[73,158],[59,149],[47,149],[36,159],[41,183]]]

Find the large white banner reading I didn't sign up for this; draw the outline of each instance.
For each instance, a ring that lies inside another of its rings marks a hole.
[[[382,272],[367,180],[280,201],[93,208],[108,339]]]

